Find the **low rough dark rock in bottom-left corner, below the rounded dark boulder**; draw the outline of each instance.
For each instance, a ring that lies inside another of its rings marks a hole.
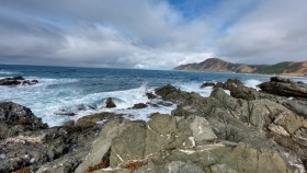
[[[78,126],[53,127],[0,140],[3,150],[0,154],[5,157],[0,161],[0,172],[13,172],[25,166],[35,172],[43,164],[50,165],[44,166],[45,172],[57,168],[73,172],[90,150],[96,131],[98,128]]]

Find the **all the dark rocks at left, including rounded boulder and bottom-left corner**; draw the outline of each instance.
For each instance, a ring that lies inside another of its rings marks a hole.
[[[118,116],[101,113],[48,128],[27,107],[0,103],[0,172],[73,172],[101,128],[96,122],[106,118]]]

